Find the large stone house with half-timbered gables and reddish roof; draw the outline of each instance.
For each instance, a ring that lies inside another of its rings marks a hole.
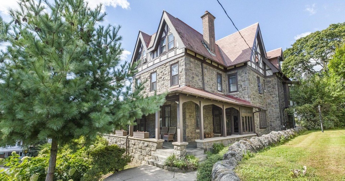
[[[141,83],[143,94],[167,97],[160,111],[130,129],[129,139],[133,130],[147,131],[149,138],[141,141],[156,147],[146,155],[129,148],[136,157],[148,160],[170,148],[162,143],[162,127],[176,128],[171,152],[180,156],[189,145],[210,150],[214,143],[294,127],[293,115],[284,111],[292,81],[280,70],[282,49],[266,52],[258,23],[216,41],[215,17],[206,11],[201,19],[202,34],[163,11],[157,32],[139,31],[131,60],[138,63],[134,88]]]

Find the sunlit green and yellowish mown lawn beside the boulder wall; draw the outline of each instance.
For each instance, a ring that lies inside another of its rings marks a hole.
[[[291,169],[303,170],[293,178]],[[345,180],[345,130],[307,131],[243,160],[235,172],[241,180]]]

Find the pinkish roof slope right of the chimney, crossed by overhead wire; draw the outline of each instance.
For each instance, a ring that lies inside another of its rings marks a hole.
[[[227,66],[233,66],[250,60],[250,55],[252,53],[251,49],[253,48],[258,26],[259,23],[255,23],[239,31],[250,48],[240,36],[239,32],[230,34],[229,36],[216,41],[216,44],[218,44],[221,49],[221,53]]]

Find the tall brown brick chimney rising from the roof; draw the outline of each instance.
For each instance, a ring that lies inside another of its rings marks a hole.
[[[203,20],[203,37],[204,43],[208,47],[209,51],[215,54],[216,50],[216,37],[215,37],[215,17],[205,11],[205,14],[201,16]]]

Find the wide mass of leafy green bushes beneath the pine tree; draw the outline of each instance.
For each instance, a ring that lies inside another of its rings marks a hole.
[[[102,174],[121,170],[130,162],[129,156],[124,155],[124,149],[117,145],[108,145],[104,138],[99,137],[90,147],[84,145],[82,139],[76,142],[79,144],[59,148],[54,180],[96,181]],[[9,167],[9,170],[5,176],[0,170],[0,180],[45,180],[50,144],[40,145],[39,149],[37,157],[19,159],[16,152],[12,153],[4,160],[4,166]]]

